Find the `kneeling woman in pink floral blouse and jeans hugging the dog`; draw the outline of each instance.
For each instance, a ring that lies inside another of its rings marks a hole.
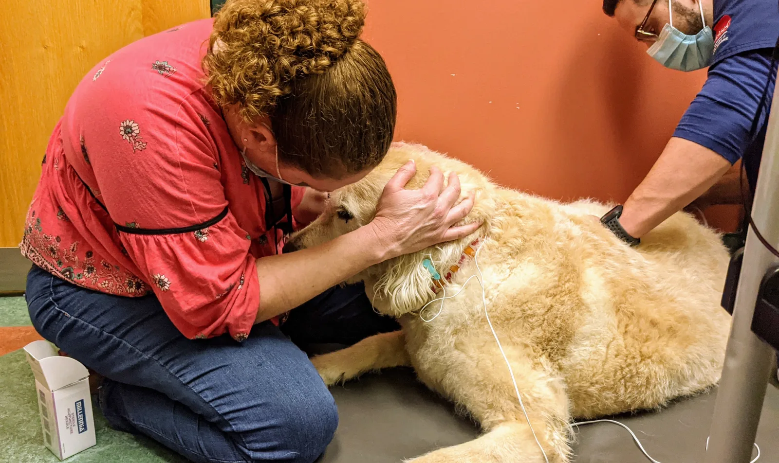
[[[282,254],[389,149],[396,93],[358,0],[228,0],[79,83],[26,219],[38,332],[104,377],[111,426],[192,461],[313,461],[337,410],[298,345],[395,328],[359,286],[379,261],[464,237],[456,177],[386,188],[375,219]]]

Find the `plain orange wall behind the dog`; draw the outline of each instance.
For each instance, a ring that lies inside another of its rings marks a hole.
[[[551,198],[624,201],[705,72],[670,71],[601,0],[368,0],[399,93],[398,140]],[[732,210],[710,216],[731,228]]]

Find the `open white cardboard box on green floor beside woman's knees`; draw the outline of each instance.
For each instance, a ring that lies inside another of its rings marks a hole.
[[[44,445],[64,460],[96,444],[89,372],[78,360],[59,356],[54,345],[24,347],[35,375]]]

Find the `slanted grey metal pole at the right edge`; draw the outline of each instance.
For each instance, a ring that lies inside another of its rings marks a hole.
[[[752,208],[755,226],[774,247],[779,246],[779,219],[774,215],[779,211],[777,179],[779,97],[774,92]],[[757,338],[751,325],[760,282],[767,268],[776,262],[750,226],[705,463],[749,463],[752,459],[774,350]]]

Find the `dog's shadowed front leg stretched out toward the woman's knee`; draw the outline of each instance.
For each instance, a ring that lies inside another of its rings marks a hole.
[[[351,380],[366,371],[411,364],[403,331],[373,335],[346,349],[315,356],[311,362],[328,386]]]

